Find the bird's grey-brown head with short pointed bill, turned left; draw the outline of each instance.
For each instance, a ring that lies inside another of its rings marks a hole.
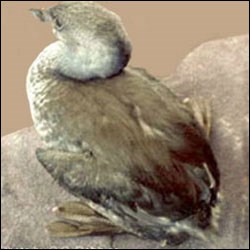
[[[116,14],[97,3],[63,1],[31,12],[40,21],[51,23],[57,39],[73,53],[84,53],[83,63],[100,68],[103,78],[127,65],[132,50],[127,32]]]

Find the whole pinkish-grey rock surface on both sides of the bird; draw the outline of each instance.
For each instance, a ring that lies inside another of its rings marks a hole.
[[[181,97],[203,96],[213,107],[212,147],[222,173],[216,242],[189,240],[173,249],[249,248],[249,37],[205,43],[164,80]],[[51,239],[44,228],[51,208],[73,200],[37,162],[33,128],[2,138],[1,248],[160,249],[133,236]],[[171,247],[164,247],[170,249]]]

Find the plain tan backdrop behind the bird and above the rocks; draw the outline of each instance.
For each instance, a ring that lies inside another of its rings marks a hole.
[[[1,134],[32,125],[25,77],[38,53],[54,40],[48,25],[27,11],[56,1],[1,2]],[[200,43],[248,33],[248,1],[174,2],[104,1],[119,14],[133,43],[131,65],[152,74],[171,74],[181,59]]]

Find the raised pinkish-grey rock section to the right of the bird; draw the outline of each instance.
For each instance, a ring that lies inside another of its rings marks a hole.
[[[211,143],[223,195],[217,248],[249,248],[249,36],[202,44],[165,80],[213,108]]]

